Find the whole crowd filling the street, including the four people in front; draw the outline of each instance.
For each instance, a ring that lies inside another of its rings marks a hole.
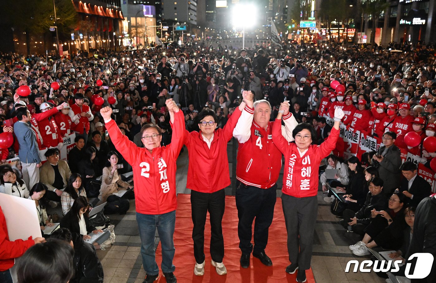
[[[58,239],[74,242],[75,253],[80,253],[76,246],[89,249],[82,247],[83,239],[100,231],[89,224],[89,198],[107,202],[105,214],[126,213],[128,199],[134,198],[144,282],[159,277],[153,249],[156,228],[163,246],[161,269],[167,282],[176,282],[175,172],[186,145],[194,274],[204,274],[209,211],[211,264],[223,275],[227,270],[221,220],[224,188],[230,185],[226,150],[235,137],[243,268],[249,267],[251,253],[272,265],[265,248],[282,155],[290,255],[286,272],[298,272],[297,282],[305,282],[310,268],[319,183],[344,228],[363,237],[350,246],[354,254],[368,254],[367,248],[375,246],[398,249],[395,257],[405,259],[408,253],[433,253],[422,236],[434,232],[431,226],[413,227],[419,217],[428,217],[419,212],[434,209],[436,200],[428,198],[430,184],[417,175],[416,163],[402,163],[403,145],[396,140],[415,131],[420,145],[403,149],[418,155],[427,167],[436,156],[422,146],[424,138],[436,132],[435,66],[433,47],[398,44],[374,49],[336,43],[281,48],[265,44],[238,50],[198,43],[118,53],[79,51],[62,58],[0,54],[0,131],[14,135],[14,144],[1,148],[0,192],[34,200],[42,231],[57,218],[45,208],[60,203],[65,230]],[[30,95],[17,93],[22,85],[31,88]],[[344,91],[336,90],[337,85]],[[95,103],[101,98],[102,105]],[[342,160],[340,124],[381,138],[383,146],[360,159]],[[75,146],[68,149],[68,160],[62,160],[63,138],[73,133]],[[44,164],[40,151],[45,151]],[[16,154],[21,170],[7,162]],[[334,178],[318,172],[324,158],[326,168],[337,171]],[[122,176],[132,171],[134,192]],[[331,188],[345,202],[338,202]],[[120,190],[127,190],[123,197],[117,195]],[[433,265],[428,282],[433,282],[435,270]],[[100,280],[100,275],[97,268],[93,278]]]

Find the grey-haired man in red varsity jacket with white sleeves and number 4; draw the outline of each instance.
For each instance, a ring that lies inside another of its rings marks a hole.
[[[236,207],[238,209],[239,248],[241,266],[248,268],[250,254],[260,259],[266,266],[272,261],[266,255],[268,230],[272,223],[276,204],[277,179],[282,168],[282,154],[272,142],[271,105],[266,100],[254,103],[245,100],[247,107],[242,111],[233,136],[238,139],[236,163]],[[288,103],[287,101],[285,102]],[[288,108],[289,109],[289,106]],[[254,121],[253,121],[254,120]],[[292,142],[292,130],[298,125],[293,115],[285,112],[282,135]],[[254,249],[251,243],[252,224],[255,219]]]

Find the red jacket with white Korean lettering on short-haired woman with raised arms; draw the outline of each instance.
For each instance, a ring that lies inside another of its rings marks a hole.
[[[272,127],[272,141],[285,155],[282,192],[296,198],[315,196],[318,193],[318,169],[321,160],[336,147],[339,130],[332,128],[321,145],[310,145],[300,157],[295,143],[288,143],[281,133],[281,121],[276,119]]]

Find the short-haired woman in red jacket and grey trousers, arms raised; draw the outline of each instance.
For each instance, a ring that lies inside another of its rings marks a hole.
[[[321,160],[336,147],[344,111],[336,108],[333,128],[321,145],[312,145],[315,130],[304,123],[293,130],[295,143],[287,142],[281,131],[283,113],[284,110],[280,107],[272,126],[272,141],[285,156],[282,206],[291,262],[286,267],[286,273],[293,274],[298,269],[297,282],[305,282],[306,270],[310,269],[313,233],[318,214],[318,170]]]

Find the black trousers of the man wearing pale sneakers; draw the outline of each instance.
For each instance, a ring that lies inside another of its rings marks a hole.
[[[205,193],[191,190],[191,215],[194,229],[194,257],[197,263],[204,261],[204,225],[209,212],[211,223],[210,253],[213,261],[221,263],[224,258],[224,239],[222,236],[222,216],[225,208],[225,191]]]

